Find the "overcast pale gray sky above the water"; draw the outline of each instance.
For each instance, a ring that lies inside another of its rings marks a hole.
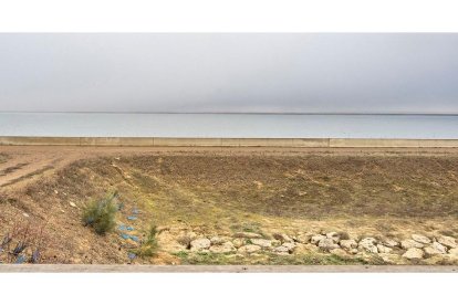
[[[0,111],[458,113],[458,34],[0,34]]]

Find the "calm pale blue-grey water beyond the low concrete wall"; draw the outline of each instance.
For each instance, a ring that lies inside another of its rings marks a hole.
[[[456,139],[458,116],[0,113],[0,136]]]

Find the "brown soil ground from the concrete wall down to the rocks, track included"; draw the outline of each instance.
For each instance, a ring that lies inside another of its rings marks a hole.
[[[45,224],[42,262],[128,263],[134,243],[81,221],[91,198],[114,189],[124,203],[118,223],[142,211],[139,236],[150,223],[173,238],[179,230],[458,235],[456,149],[41,146],[0,147],[0,234]],[[136,262],[180,263],[166,249]]]

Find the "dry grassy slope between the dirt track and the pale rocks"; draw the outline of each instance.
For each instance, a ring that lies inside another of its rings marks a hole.
[[[74,162],[55,178],[30,185],[23,193],[3,194],[0,218],[8,225],[25,211],[40,221],[48,220],[50,243],[56,249],[50,259],[74,262],[77,256],[85,263],[126,262],[127,250],[119,250],[123,241],[116,234],[94,235],[81,225],[81,210],[67,203],[72,200],[81,207],[107,189],[119,190],[126,209],[143,210],[139,230],[154,222],[217,233],[242,230],[270,234],[279,228],[306,229],[304,225],[315,222],[335,227],[342,220],[344,227],[356,231],[375,227],[387,233],[421,227],[456,235],[457,177],[456,157],[98,158]],[[119,221],[125,217],[121,214]],[[190,263],[199,260],[181,259]],[[313,262],[302,260],[308,261]]]

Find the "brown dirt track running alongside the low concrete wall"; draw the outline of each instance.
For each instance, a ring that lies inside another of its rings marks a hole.
[[[221,156],[368,156],[408,155],[437,156],[457,155],[457,148],[223,148],[223,147],[72,147],[72,146],[0,146],[0,187],[17,189],[25,182],[49,176],[72,161],[97,156],[118,155],[221,155]],[[3,160],[3,162],[1,162]]]

